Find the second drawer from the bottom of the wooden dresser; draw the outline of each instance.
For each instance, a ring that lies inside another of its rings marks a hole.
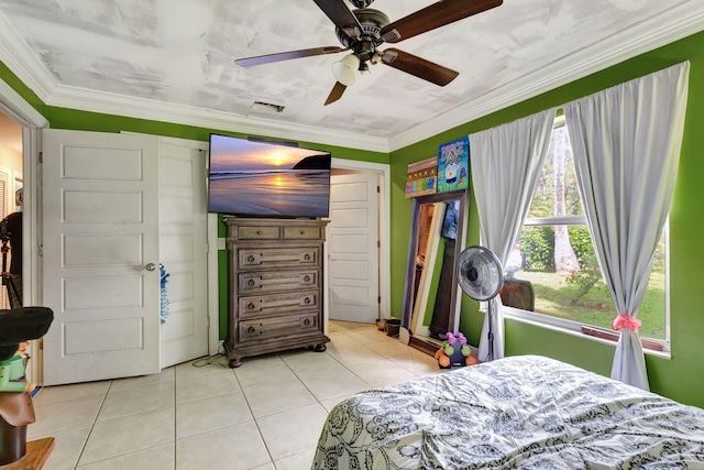
[[[238,299],[240,320],[300,311],[319,310],[319,292],[248,295]]]

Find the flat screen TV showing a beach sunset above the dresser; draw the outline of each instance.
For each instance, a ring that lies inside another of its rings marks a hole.
[[[328,217],[329,152],[210,134],[208,211],[249,217]]]

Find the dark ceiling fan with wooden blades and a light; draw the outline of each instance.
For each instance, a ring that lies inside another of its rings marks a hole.
[[[367,8],[374,0],[314,0],[334,23],[338,40],[344,47],[327,46],[234,61],[242,67],[271,64],[314,55],[351,54],[332,64],[332,74],[338,80],[326,100],[330,105],[339,100],[346,87],[354,84],[356,72],[369,72],[369,64],[383,63],[441,87],[452,81],[459,73],[395,47],[377,50],[383,43],[397,43],[408,37],[453,23],[464,18],[498,7],[503,0],[441,0],[407,17],[391,22],[378,10]]]

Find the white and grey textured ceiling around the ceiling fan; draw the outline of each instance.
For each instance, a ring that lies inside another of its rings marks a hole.
[[[371,8],[394,21],[430,3]],[[338,133],[398,147],[696,32],[703,12],[704,0],[505,0],[394,45],[458,70],[447,87],[378,64],[330,106],[331,64],[344,53],[233,63],[339,46],[311,0],[0,0],[0,59],[50,105],[122,103],[113,112],[145,109],[147,118],[162,106],[180,122],[210,112],[231,130],[251,122],[277,136],[297,127],[300,140],[317,132],[308,140],[334,143]],[[256,110],[254,101],[284,111]]]

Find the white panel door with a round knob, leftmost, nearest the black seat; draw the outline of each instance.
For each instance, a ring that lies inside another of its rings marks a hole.
[[[43,132],[44,384],[160,371],[158,139]]]

